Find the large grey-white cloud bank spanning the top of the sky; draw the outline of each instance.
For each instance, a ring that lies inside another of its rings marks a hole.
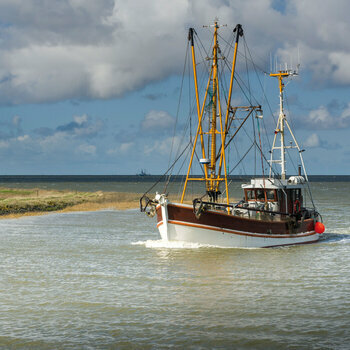
[[[0,103],[112,98],[179,74],[188,28],[200,32],[215,16],[228,24],[223,28],[226,34],[242,23],[248,44],[259,56],[268,58],[279,48],[289,62],[290,53],[299,47],[302,64],[315,79],[350,84],[350,44],[342,35],[350,32],[350,3],[286,1],[283,11],[274,4],[3,0]]]

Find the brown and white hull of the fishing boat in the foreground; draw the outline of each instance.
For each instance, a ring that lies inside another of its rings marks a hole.
[[[291,226],[286,220],[264,221],[208,210],[197,219],[192,206],[164,203],[157,207],[163,240],[232,248],[262,248],[313,243],[319,240],[313,219]]]

